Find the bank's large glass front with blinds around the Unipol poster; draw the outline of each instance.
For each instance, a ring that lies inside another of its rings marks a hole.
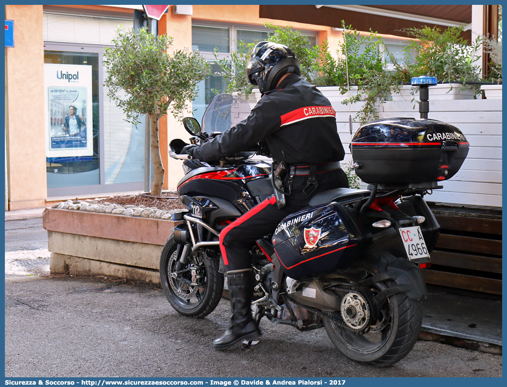
[[[138,125],[128,123],[122,109],[107,96],[107,88],[102,85],[106,76],[102,66],[103,48],[111,45],[111,40],[116,36],[120,26],[132,28],[132,18],[44,12],[45,66],[49,66],[48,64],[91,66],[93,84],[92,97],[88,97],[88,100],[92,100],[93,107],[89,108],[88,115],[93,119],[87,121],[90,128],[93,126],[91,128],[93,137],[86,142],[93,143],[93,151],[89,152],[87,149],[86,152],[81,152],[80,157],[47,158],[49,197],[143,188],[146,118],[141,117],[141,123]],[[86,33],[87,31],[90,33]],[[55,134],[59,136],[62,136],[62,133],[58,132],[58,128],[61,129],[62,121],[69,115],[69,103],[66,105],[55,106],[53,103],[50,126],[55,128]],[[77,107],[79,109],[79,105]],[[87,128],[87,134],[90,133],[90,128]],[[51,142],[48,156],[57,153],[53,152],[53,148]],[[70,156],[69,152],[61,153],[58,156]],[[82,156],[84,153],[86,156]],[[151,162],[150,168],[153,176]]]

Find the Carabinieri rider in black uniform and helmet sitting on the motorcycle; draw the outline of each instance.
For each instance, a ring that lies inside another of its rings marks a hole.
[[[345,151],[337,132],[335,110],[317,88],[301,78],[300,66],[286,46],[258,43],[250,53],[246,76],[262,98],[249,116],[224,134],[182,150],[195,159],[216,161],[265,141],[273,158],[273,173],[282,181],[285,205],[272,196],[220,233],[220,249],[227,266],[231,323],[213,341],[218,349],[261,336],[251,315],[250,248],[273,232],[289,214],[308,206],[318,192],[348,187],[340,169]],[[274,172],[274,171],[277,172]]]

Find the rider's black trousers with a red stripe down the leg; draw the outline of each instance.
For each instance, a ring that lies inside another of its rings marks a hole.
[[[317,189],[305,195],[307,177],[296,176],[291,196],[286,196],[286,205],[278,209],[274,196],[266,199],[241,215],[220,233],[220,250],[227,270],[244,270],[251,267],[249,250],[258,239],[273,233],[286,216],[308,206],[318,192],[348,187],[345,173],[339,169],[317,175]]]

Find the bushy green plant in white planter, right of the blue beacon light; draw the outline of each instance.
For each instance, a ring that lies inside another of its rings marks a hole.
[[[429,88],[431,99],[473,99],[482,81],[479,50],[481,38],[468,44],[463,27],[407,28],[410,38],[405,51],[416,53],[410,72],[414,76],[435,76],[439,85]]]

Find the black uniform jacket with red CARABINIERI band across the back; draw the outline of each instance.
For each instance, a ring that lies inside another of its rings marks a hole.
[[[196,150],[201,160],[219,160],[261,140],[267,142],[273,161],[289,165],[341,161],[345,154],[331,103],[295,74],[264,94],[244,121]]]

